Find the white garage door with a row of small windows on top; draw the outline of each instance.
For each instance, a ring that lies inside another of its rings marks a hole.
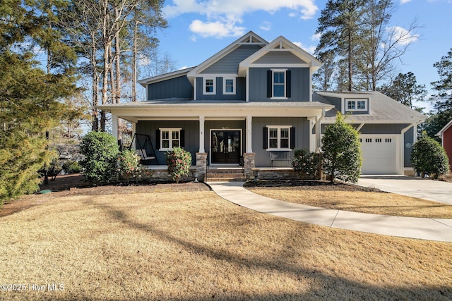
[[[362,174],[397,174],[396,137],[362,135]]]

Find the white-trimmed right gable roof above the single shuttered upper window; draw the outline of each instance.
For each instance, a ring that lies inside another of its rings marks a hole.
[[[248,58],[244,59],[244,61],[239,63],[239,76],[244,76],[246,73],[246,69],[252,66],[254,67],[271,66],[272,63],[259,63],[259,60],[268,54],[276,52],[290,53],[298,59],[297,62],[291,62],[287,64],[275,61],[275,66],[278,66],[279,68],[310,67],[313,68],[312,72],[314,72],[322,66],[321,61],[316,59],[314,56],[311,56],[311,54],[309,54],[307,51],[304,51],[303,49],[299,48],[297,45],[290,42],[285,37],[280,36],[274,39],[272,42],[266,44],[266,46],[263,47],[261,50],[256,51],[254,54],[252,54]]]

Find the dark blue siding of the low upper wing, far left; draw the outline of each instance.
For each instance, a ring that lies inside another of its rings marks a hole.
[[[186,75],[148,85],[148,100],[172,97],[193,99],[193,86]]]

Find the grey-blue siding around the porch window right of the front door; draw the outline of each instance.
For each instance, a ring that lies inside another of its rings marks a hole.
[[[305,117],[254,117],[253,152],[256,167],[268,167],[271,164],[269,152],[263,148],[263,128],[267,125],[291,125],[295,128],[295,149],[309,149],[309,121]],[[287,164],[287,163],[286,163]]]

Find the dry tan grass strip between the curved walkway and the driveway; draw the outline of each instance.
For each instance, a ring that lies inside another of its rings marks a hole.
[[[395,193],[363,191],[353,185],[253,187],[258,195],[314,207],[392,216],[452,219],[452,206]]]

